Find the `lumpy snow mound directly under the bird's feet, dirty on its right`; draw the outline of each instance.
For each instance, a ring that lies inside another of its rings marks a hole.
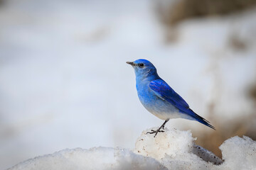
[[[142,132],[134,152],[153,157],[169,169],[209,169],[221,164],[222,159],[212,152],[195,145],[196,138],[190,131],[165,130],[154,135]]]

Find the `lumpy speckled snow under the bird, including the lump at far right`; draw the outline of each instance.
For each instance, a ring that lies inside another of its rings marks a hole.
[[[154,128],[156,130],[156,128]],[[168,169],[256,169],[256,142],[232,137],[220,146],[225,162],[195,144],[190,131],[168,130],[154,135],[142,132],[134,152],[153,157]]]

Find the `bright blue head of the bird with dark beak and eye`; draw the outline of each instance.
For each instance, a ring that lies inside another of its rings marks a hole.
[[[158,77],[156,67],[148,60],[139,59],[134,62],[127,62],[134,68],[137,79],[154,78]]]

